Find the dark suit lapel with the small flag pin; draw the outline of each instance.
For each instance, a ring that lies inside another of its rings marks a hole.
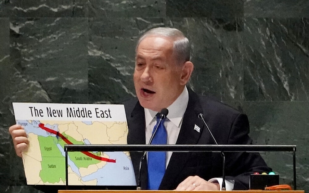
[[[184,118],[176,144],[197,144],[204,127],[203,122],[197,116],[199,113],[203,113],[198,96],[192,90],[188,89],[188,91],[188,106],[184,113]],[[195,125],[197,126],[196,129],[194,129]],[[190,156],[191,153],[172,153],[159,190],[169,190],[172,188],[171,186],[175,184],[175,179],[180,174]]]

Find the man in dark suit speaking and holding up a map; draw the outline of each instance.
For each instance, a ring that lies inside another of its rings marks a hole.
[[[155,115],[167,108],[167,144],[214,144],[198,118],[200,113],[218,144],[251,144],[246,115],[186,87],[193,72],[189,48],[188,39],[173,28],[154,28],[139,39],[133,76],[137,99],[125,103],[128,143],[148,144]],[[11,126],[9,131],[16,154],[21,157],[29,143],[26,132],[20,125]],[[141,157],[141,153],[131,153],[136,177]],[[220,153],[167,152],[164,164],[166,170],[158,186],[161,190],[220,190]],[[142,189],[151,183],[146,165],[142,168]],[[226,153],[226,189],[248,189],[249,174],[270,170],[257,153]]]

